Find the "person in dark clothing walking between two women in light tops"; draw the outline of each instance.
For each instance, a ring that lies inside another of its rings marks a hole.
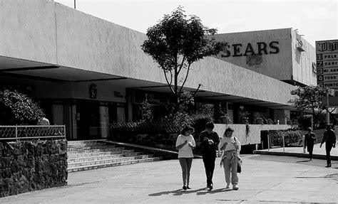
[[[217,146],[220,143],[220,138],[217,132],[212,131],[215,125],[212,122],[208,122],[205,125],[205,130],[200,133],[200,142],[202,145],[202,156],[205,168],[205,175],[207,176],[207,188],[212,190],[212,176],[215,170],[215,160]]]

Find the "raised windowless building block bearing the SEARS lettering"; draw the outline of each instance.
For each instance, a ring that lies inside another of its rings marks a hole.
[[[229,42],[217,58],[291,85],[317,85],[316,50],[292,28],[224,33]]]

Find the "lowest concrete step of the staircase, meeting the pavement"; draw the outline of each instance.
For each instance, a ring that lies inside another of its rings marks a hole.
[[[162,159],[162,157],[151,157],[151,158],[146,158],[146,159],[118,161],[118,162],[112,162],[112,163],[101,163],[101,164],[88,165],[88,166],[74,166],[74,167],[68,167],[67,171],[68,171],[68,173],[71,173],[71,172],[86,171],[86,170],[91,170],[91,169],[96,169],[96,168],[106,168],[106,167],[111,167],[111,166],[128,165],[128,164],[132,164],[132,163],[158,161],[158,160],[161,160],[161,159]]]

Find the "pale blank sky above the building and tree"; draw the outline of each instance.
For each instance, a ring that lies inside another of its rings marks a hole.
[[[74,0],[54,1],[74,7]],[[142,33],[183,6],[185,14],[199,16],[203,25],[218,33],[294,28],[312,45],[338,39],[338,0],[75,1],[79,11]]]

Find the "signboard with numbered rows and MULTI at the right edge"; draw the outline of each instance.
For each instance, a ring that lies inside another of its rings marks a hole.
[[[316,41],[317,84],[338,90],[338,40]]]

